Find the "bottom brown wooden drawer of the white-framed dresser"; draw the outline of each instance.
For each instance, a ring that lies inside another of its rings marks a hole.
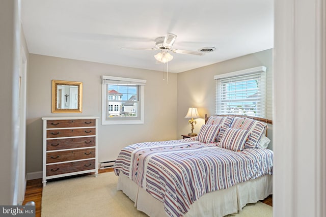
[[[95,159],[86,161],[76,161],[63,164],[53,164],[46,166],[46,175],[58,175],[64,173],[71,173],[83,170],[95,169]]]

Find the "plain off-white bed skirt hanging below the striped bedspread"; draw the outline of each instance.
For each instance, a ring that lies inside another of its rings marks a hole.
[[[135,207],[147,215],[152,217],[167,216],[162,202],[153,198],[122,173],[119,175],[117,190],[122,190],[134,201]],[[184,216],[225,216],[240,211],[247,203],[255,203],[271,194],[273,194],[273,176],[265,175],[239,183],[229,189],[203,195],[190,206],[190,210]]]

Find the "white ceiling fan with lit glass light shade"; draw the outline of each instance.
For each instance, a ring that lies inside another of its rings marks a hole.
[[[168,61],[173,59],[173,56],[169,53],[169,51],[181,54],[203,55],[203,53],[199,51],[172,49],[173,43],[176,38],[177,35],[168,33],[165,37],[158,37],[155,39],[155,48],[123,47],[121,49],[159,50],[160,52],[155,55],[155,59],[160,63],[167,63]]]

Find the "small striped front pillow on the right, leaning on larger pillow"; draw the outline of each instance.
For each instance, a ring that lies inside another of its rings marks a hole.
[[[249,134],[248,130],[228,128],[225,131],[220,146],[233,151],[242,151]]]

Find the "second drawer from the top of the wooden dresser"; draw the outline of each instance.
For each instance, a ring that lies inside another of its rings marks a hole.
[[[95,128],[57,129],[47,130],[46,138],[59,138],[70,136],[94,136]]]

